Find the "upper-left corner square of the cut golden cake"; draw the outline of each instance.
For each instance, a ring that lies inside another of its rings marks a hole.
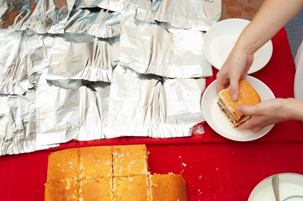
[[[48,156],[47,182],[65,179],[78,180],[79,159],[78,149],[64,149]]]

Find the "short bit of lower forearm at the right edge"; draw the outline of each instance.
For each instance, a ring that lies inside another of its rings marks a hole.
[[[303,120],[303,100],[302,99],[286,99],[288,102],[286,105],[287,119]]]

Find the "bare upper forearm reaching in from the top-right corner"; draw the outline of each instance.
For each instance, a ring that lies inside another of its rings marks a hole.
[[[265,0],[235,47],[254,54],[302,8],[303,0]]]

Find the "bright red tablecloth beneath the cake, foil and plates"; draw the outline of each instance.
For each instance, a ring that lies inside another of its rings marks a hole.
[[[252,76],[269,86],[275,97],[293,97],[295,68],[286,31],[281,29],[272,41],[270,62]],[[217,70],[213,69],[213,73],[207,85],[215,80]],[[1,156],[0,201],[43,201],[50,152],[92,145],[147,144],[152,173],[184,170],[189,201],[245,201],[253,188],[270,175],[303,174],[301,121],[279,123],[264,137],[246,143],[225,139],[207,124],[204,129],[204,134],[186,138],[122,137],[70,142],[49,150]]]

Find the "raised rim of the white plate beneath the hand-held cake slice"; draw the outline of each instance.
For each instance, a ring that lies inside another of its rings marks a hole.
[[[273,91],[272,91],[267,85],[265,85],[265,83],[263,83],[261,80],[255,78],[255,77],[253,77],[253,76],[247,75],[246,78],[247,78],[247,77],[249,77],[249,79],[256,80],[256,81],[260,82],[261,84],[263,84],[264,86],[266,86],[266,87],[270,90],[271,95],[273,96],[273,99],[275,98],[275,96],[274,96],[274,94],[273,94]],[[245,79],[246,79],[246,78],[245,78]],[[257,140],[257,139],[263,137],[264,135],[266,135],[269,131],[271,131],[271,130],[273,129],[274,124],[272,124],[272,125],[270,125],[270,126],[267,126],[267,127],[265,127],[265,128],[268,128],[268,131],[264,132],[262,135],[258,135],[258,136],[254,137],[254,138],[249,139],[249,140],[245,140],[245,139],[244,139],[244,140],[242,140],[242,139],[237,139],[237,140],[235,140],[235,139],[232,139],[232,138],[230,138],[230,137],[227,137],[227,136],[224,135],[224,134],[221,134],[220,132],[218,132],[217,129],[214,129],[214,128],[209,124],[209,122],[208,122],[208,119],[209,119],[209,118],[208,118],[208,117],[205,115],[205,113],[204,113],[204,106],[203,106],[204,104],[203,104],[203,102],[204,102],[205,99],[206,99],[206,98],[205,98],[206,96],[204,96],[204,94],[207,93],[207,91],[209,90],[210,86],[214,85],[214,84],[216,83],[216,81],[217,81],[217,79],[215,79],[214,81],[212,81],[212,83],[211,83],[209,86],[206,87],[206,89],[205,89],[205,91],[204,91],[204,93],[203,93],[203,96],[202,96],[202,100],[201,100],[202,113],[203,113],[203,115],[204,115],[205,121],[207,122],[207,124],[208,124],[216,133],[218,133],[218,134],[221,135],[222,137],[227,138],[227,139],[229,139],[229,140],[233,140],[233,141],[237,141],[237,142],[249,142],[249,141]],[[256,133],[256,134],[258,134],[258,133]]]

